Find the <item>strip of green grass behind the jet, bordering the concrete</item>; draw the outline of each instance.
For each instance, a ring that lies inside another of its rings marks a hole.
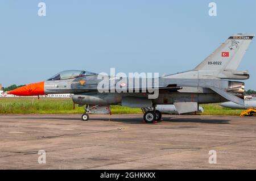
[[[239,115],[242,110],[232,110],[219,104],[203,104],[202,115]],[[112,113],[142,113],[139,108],[111,106]],[[83,107],[75,106],[68,98],[0,98],[0,113],[84,113]]]

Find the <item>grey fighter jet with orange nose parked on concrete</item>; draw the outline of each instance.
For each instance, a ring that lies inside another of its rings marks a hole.
[[[148,83],[150,78],[146,78],[146,85],[138,86],[134,83],[137,79],[131,77],[68,70],[57,73],[47,81],[32,83],[8,93],[22,96],[73,94],[75,104],[86,105],[82,120],[88,120],[89,113],[111,113],[110,105],[142,108],[147,123],[161,119],[161,114],[155,108],[158,104],[174,104],[178,113],[199,111],[199,104],[228,100],[244,105],[241,98],[245,84],[230,79],[249,78],[248,71],[238,71],[237,68],[254,36],[252,33],[236,33],[196,68],[151,78],[151,85]],[[103,80],[108,81],[108,85],[105,83],[102,86]],[[139,78],[139,82],[142,81],[144,79]],[[159,94],[154,97],[156,91]]]

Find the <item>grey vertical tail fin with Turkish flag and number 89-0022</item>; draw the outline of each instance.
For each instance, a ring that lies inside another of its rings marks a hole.
[[[194,70],[237,70],[254,36],[253,33],[230,36]]]

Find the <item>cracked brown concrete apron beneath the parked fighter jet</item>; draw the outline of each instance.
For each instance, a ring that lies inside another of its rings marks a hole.
[[[0,115],[0,169],[256,169],[256,119],[238,116]],[[46,164],[39,164],[39,150]],[[209,150],[217,151],[210,164]]]

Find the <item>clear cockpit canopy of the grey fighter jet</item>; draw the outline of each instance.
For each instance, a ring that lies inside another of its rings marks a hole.
[[[61,71],[60,73],[57,73],[56,75],[53,75],[47,81],[71,79],[71,78],[77,78],[77,77],[84,77],[86,75],[96,75],[96,73],[92,73],[90,71],[84,71],[84,70],[65,70],[65,71]]]

